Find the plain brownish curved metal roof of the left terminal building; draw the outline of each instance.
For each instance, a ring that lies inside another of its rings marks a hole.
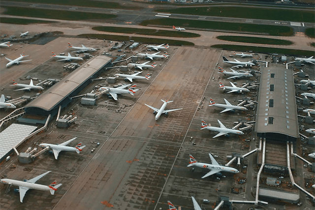
[[[53,109],[60,101],[90,79],[91,76],[110,60],[112,59],[103,55],[92,58],[64,77],[60,82],[41,93],[36,99],[27,104],[25,108],[36,107],[46,111]]]

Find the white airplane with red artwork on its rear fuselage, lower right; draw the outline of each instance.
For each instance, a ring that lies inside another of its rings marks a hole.
[[[210,156],[212,164],[209,164],[209,163],[198,163],[196,161],[196,159],[191,154],[189,154],[190,162],[189,162],[189,165],[187,167],[197,166],[199,168],[206,168],[206,169],[211,170],[210,172],[208,172],[202,178],[209,177],[209,176],[217,174],[217,173],[219,173],[221,171],[234,173],[234,174],[239,173],[239,171],[237,169],[235,169],[235,168],[219,165],[219,163],[216,161],[216,159],[210,153],[209,153],[209,156]]]

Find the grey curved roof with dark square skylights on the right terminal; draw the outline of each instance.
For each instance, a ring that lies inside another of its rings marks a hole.
[[[258,94],[256,132],[278,133],[298,138],[292,71],[282,66],[263,69]]]

